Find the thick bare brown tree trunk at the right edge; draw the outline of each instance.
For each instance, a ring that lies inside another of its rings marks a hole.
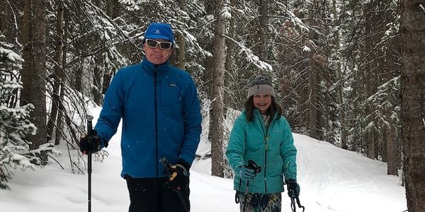
[[[403,3],[402,136],[407,208],[425,211],[425,2]]]

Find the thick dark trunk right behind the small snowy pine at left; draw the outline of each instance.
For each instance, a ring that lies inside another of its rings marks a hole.
[[[39,148],[47,143],[46,137],[46,35],[45,1],[23,2],[23,63],[21,105],[31,103],[31,122],[37,126],[37,134],[28,137],[30,149]],[[47,155],[41,152],[42,163],[47,163]]]

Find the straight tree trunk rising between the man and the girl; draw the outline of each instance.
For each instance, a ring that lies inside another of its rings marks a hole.
[[[222,15],[225,6],[224,0],[216,0],[215,32],[214,32],[214,73],[212,78],[212,95],[210,110],[210,131],[208,137],[211,141],[211,174],[224,177],[222,161],[224,158],[223,146],[223,86],[226,61],[225,35],[226,18]]]

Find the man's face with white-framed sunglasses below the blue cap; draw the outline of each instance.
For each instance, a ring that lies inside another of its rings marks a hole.
[[[161,44],[160,42],[164,43]],[[168,42],[170,45],[165,42]],[[169,47],[169,49],[164,49],[164,47]],[[169,59],[171,52],[173,51],[171,48],[171,42],[163,39],[146,39],[143,49],[145,50],[147,61],[156,65],[164,64],[164,62]]]

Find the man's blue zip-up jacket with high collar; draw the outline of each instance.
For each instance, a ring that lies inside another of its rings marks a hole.
[[[122,177],[165,177],[159,163],[163,157],[171,164],[193,162],[202,117],[195,83],[186,71],[146,58],[120,69],[95,126],[101,140],[111,139],[121,118]]]

